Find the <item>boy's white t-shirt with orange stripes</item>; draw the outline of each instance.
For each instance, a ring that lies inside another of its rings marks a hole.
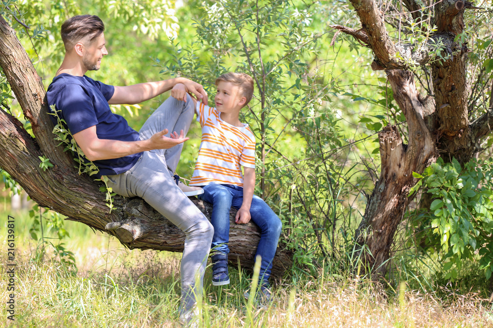
[[[202,127],[199,156],[189,185],[209,183],[243,187],[240,166],[255,168],[255,136],[248,124],[233,126],[217,109],[197,102],[197,121]]]

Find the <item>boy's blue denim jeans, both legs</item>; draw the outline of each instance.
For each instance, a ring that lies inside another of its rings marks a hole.
[[[197,198],[212,204],[211,223],[214,227],[214,251],[229,253],[229,211],[239,209],[243,203],[243,188],[232,184],[210,183]],[[259,280],[267,282],[271,275],[272,260],[276,254],[282,223],[274,211],[258,196],[253,195],[250,207],[251,220],[260,228],[261,235],[256,255],[262,257]]]

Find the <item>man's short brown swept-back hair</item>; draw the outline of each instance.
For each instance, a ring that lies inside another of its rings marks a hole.
[[[60,34],[66,51],[71,51],[73,46],[85,39],[92,42],[105,31],[105,24],[96,15],[73,16],[62,24]]]

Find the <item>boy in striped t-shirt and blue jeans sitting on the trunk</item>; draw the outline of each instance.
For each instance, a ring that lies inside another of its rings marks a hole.
[[[212,285],[229,284],[229,211],[233,206],[238,209],[235,218],[237,224],[248,223],[251,219],[261,229],[256,252],[256,255],[261,256],[259,295],[269,300],[268,279],[282,223],[261,198],[253,195],[255,137],[248,124],[239,119],[240,110],[252,98],[253,80],[245,73],[226,73],[216,79],[215,85],[215,108],[202,102],[196,103],[202,140],[189,184],[201,186],[204,193],[197,197],[212,204]],[[176,85],[174,91],[172,95],[185,96],[183,85]],[[244,174],[240,166],[243,166]]]

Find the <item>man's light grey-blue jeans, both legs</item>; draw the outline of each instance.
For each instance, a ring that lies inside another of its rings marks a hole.
[[[179,101],[169,97],[146,120],[139,134],[149,139],[165,128],[180,130],[186,135],[194,115],[193,101]],[[193,309],[196,298],[202,295],[213,228],[204,214],[176,185],[173,174],[178,165],[183,144],[170,149],[144,151],[139,161],[127,172],[107,176],[108,187],[125,197],[139,196],[185,233],[185,247],[181,258],[181,304],[179,313]]]

